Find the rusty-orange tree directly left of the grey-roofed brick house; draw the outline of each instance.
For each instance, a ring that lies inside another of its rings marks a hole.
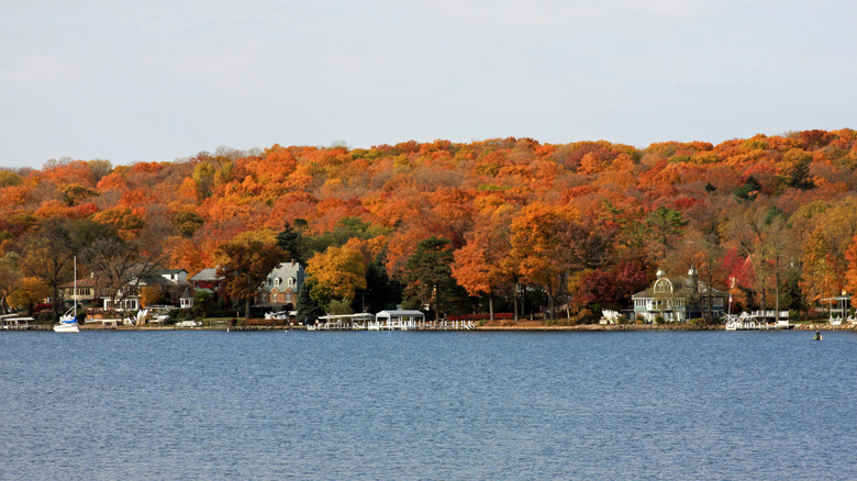
[[[268,273],[283,260],[285,253],[275,244],[238,235],[221,245],[215,258],[220,264],[218,276],[232,299],[244,299],[244,317],[249,318],[253,299],[265,283]]]

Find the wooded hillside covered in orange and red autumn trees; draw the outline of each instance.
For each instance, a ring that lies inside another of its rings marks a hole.
[[[255,242],[304,261],[326,310],[403,297],[452,314],[491,299],[587,322],[628,306],[657,269],[690,268],[734,286],[736,309],[778,297],[808,309],[857,289],[855,168],[853,130],[645,149],[505,138],[52,160],[0,170],[0,297],[49,293],[74,256],[119,289],[118,264],[193,275]]]

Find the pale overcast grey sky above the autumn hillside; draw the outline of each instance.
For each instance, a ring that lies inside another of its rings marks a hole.
[[[852,0],[3,0],[0,167],[857,128]]]

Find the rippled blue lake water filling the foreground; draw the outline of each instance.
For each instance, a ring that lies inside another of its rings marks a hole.
[[[857,334],[0,333],[0,479],[857,479]]]

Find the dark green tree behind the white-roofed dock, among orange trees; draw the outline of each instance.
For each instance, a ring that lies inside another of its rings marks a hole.
[[[421,240],[416,251],[408,258],[405,295],[421,305],[429,305],[434,311],[435,322],[441,317],[441,309],[448,302],[445,295],[453,293],[453,260],[449,240],[439,237]]]

